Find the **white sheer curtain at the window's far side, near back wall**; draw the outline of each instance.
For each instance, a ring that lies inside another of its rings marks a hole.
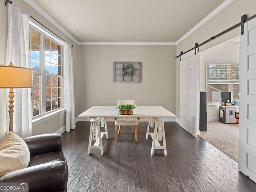
[[[63,101],[66,108],[66,131],[76,127],[75,124],[75,96],[74,96],[74,70],[71,45],[65,42],[64,45],[64,86]]]

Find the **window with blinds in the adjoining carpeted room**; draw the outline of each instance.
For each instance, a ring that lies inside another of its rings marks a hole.
[[[231,92],[239,100],[239,63],[206,62],[208,104],[220,103],[220,92]]]

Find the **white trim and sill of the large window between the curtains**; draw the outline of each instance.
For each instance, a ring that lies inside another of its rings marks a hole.
[[[50,32],[50,30],[48,30],[47,28],[45,28],[44,26],[42,26],[40,23],[38,23],[36,20],[32,19],[31,17],[29,18],[29,26],[34,28],[36,31],[40,32],[40,33],[44,33],[44,36],[46,36],[47,38],[50,38],[52,40],[54,40],[56,43],[60,44],[62,46],[62,64],[63,64],[63,58],[64,58],[64,44],[65,42],[60,39],[59,37],[57,37],[55,34],[53,34],[52,32]],[[44,46],[42,44],[42,46]],[[44,47],[43,47],[44,49]],[[43,57],[43,56],[41,56]],[[41,62],[42,62],[42,58],[40,58]],[[42,66],[42,65],[41,65]],[[44,70],[42,70],[42,74],[44,73]],[[49,112],[45,112],[44,114],[39,114],[37,116],[32,117],[32,126],[39,124],[41,122],[44,122],[50,118],[53,118],[55,116],[58,116],[59,114],[62,114],[64,112],[66,112],[66,108],[63,107],[63,68],[62,68],[62,107],[55,109],[55,110],[51,110]],[[42,82],[44,83],[44,82]],[[42,89],[42,86],[41,86]],[[42,90],[41,90],[42,91]],[[41,93],[42,94],[42,93]],[[41,98],[42,99],[42,98]],[[42,105],[42,100],[41,100],[41,105]],[[45,101],[44,101],[45,102]],[[45,104],[44,104],[45,106]]]

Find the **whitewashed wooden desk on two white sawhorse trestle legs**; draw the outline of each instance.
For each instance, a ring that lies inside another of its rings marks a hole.
[[[106,135],[108,139],[108,128],[106,122],[108,121],[138,121],[148,122],[146,132],[146,140],[148,135],[152,137],[151,155],[154,155],[154,149],[163,149],[164,154],[167,156],[166,139],[164,132],[164,117],[176,117],[170,111],[162,106],[136,106],[132,115],[118,115],[118,110],[115,106],[92,106],[78,117],[89,117],[90,120],[90,134],[88,155],[91,149],[100,149],[103,154],[102,137]],[[100,132],[100,126],[105,126],[105,132]],[[154,132],[149,132],[149,128],[154,126]],[[96,140],[92,145],[92,140]],[[163,140],[163,146],[158,142]]]

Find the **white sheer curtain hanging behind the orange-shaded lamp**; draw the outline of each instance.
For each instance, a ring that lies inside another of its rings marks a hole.
[[[6,65],[28,68],[29,15],[16,4],[8,4],[8,37]],[[15,78],[15,76],[13,77]],[[6,89],[8,92],[8,90]],[[32,135],[31,90],[14,89],[13,131],[20,137]],[[9,103],[7,103],[7,106]],[[9,108],[7,107],[7,110]],[[7,112],[8,114],[8,112]],[[8,116],[9,118],[9,116]],[[7,119],[8,119],[7,118]],[[9,119],[8,119],[9,121]],[[9,124],[9,123],[8,123]]]

